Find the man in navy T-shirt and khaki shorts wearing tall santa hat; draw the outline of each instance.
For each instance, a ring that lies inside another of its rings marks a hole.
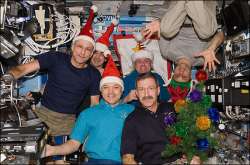
[[[36,60],[16,66],[2,76],[5,81],[13,81],[37,71],[48,71],[48,80],[41,99],[41,107],[35,110],[37,116],[49,127],[55,144],[62,144],[62,135],[69,135],[79,113],[79,105],[90,94],[91,105],[99,103],[100,73],[87,61],[95,50],[92,22],[97,7],[90,8],[89,18],[78,36],[72,41],[72,53],[47,52]],[[88,93],[87,93],[88,92]],[[55,158],[62,164],[62,157]]]

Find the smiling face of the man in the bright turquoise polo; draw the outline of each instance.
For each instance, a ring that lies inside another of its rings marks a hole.
[[[119,103],[122,95],[122,87],[118,83],[105,83],[101,87],[103,99],[110,105]]]

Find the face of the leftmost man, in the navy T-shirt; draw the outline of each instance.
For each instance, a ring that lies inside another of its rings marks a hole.
[[[85,66],[86,62],[93,54],[94,46],[91,42],[85,40],[77,40],[72,45],[71,63],[77,68]]]

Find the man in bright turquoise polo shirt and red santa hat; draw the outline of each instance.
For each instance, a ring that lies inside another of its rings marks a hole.
[[[47,145],[44,156],[70,154],[84,143],[84,151],[88,156],[86,164],[121,164],[123,123],[134,107],[120,102],[123,81],[118,77],[120,73],[111,56],[108,58],[104,78],[100,82],[103,99],[98,105],[81,112],[69,141],[60,146]]]

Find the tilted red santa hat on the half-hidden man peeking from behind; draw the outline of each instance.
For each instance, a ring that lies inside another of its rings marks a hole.
[[[106,32],[103,33],[103,35],[96,40],[96,50],[100,52],[104,52],[108,49],[110,43],[109,43],[109,37],[114,31],[114,27],[117,26],[118,20],[113,19],[109,27],[107,28]]]

